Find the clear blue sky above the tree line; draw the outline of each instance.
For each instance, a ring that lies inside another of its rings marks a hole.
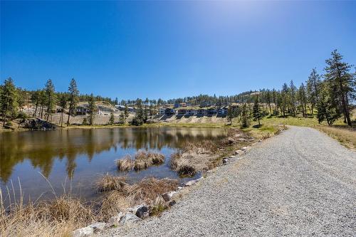
[[[356,64],[356,1],[1,1],[0,80],[111,98],[299,85],[337,48]]]

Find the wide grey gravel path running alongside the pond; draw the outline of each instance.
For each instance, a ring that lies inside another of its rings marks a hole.
[[[219,167],[160,218],[103,236],[356,236],[356,152],[290,127]]]

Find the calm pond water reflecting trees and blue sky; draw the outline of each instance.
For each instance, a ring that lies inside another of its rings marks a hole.
[[[126,175],[128,182],[143,177],[179,179],[169,169],[169,157],[184,142],[201,139],[221,139],[225,130],[218,128],[112,128],[92,130],[56,130],[34,132],[3,132],[0,134],[0,180],[3,194],[6,186],[12,193],[21,189],[28,199],[53,196],[72,190],[73,195],[87,199],[95,197],[93,182],[105,173]],[[161,152],[164,164],[141,172],[117,172],[115,159],[134,155],[139,149]],[[42,176],[43,175],[43,176]],[[46,179],[44,178],[46,177]],[[12,184],[11,184],[12,181]],[[186,179],[179,179],[186,181]]]

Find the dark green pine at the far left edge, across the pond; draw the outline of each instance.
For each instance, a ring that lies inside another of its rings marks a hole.
[[[17,111],[17,91],[14,85],[14,80],[8,78],[4,81],[0,91],[0,112],[3,121],[3,126],[8,117],[15,117]]]

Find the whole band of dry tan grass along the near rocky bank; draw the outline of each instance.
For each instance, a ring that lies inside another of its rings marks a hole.
[[[0,236],[71,236],[75,229],[95,221],[108,221],[130,206],[154,205],[160,194],[177,190],[178,182],[146,178],[130,185],[125,183],[124,177],[105,174],[95,185],[103,192],[103,197],[95,202],[63,194],[51,200],[24,204],[22,192],[17,199],[9,189],[6,194],[0,189]],[[6,201],[10,202],[9,206],[4,206]]]

